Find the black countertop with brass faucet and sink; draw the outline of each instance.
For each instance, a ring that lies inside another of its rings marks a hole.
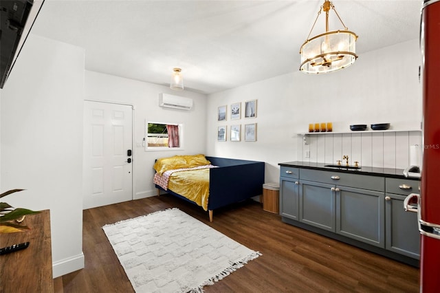
[[[287,166],[287,167],[303,168],[303,169],[338,171],[341,173],[358,173],[358,174],[362,174],[362,175],[372,175],[372,176],[380,176],[380,177],[385,176],[385,177],[391,177],[391,178],[420,181],[420,178],[405,177],[404,176],[404,169],[378,168],[378,167],[371,167],[371,166],[361,166],[361,169],[344,169],[343,166],[341,166],[341,168],[326,167],[325,165],[328,165],[327,163],[312,163],[312,162],[303,162],[303,161],[278,163],[278,165],[279,166]]]

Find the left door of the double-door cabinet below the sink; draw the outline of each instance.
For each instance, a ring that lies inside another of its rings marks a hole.
[[[334,188],[333,184],[300,180],[300,221],[335,232]]]

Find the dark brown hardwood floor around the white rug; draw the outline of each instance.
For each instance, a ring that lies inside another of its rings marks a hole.
[[[419,292],[419,269],[284,224],[258,202],[208,213],[170,195],[84,210],[85,268],[54,279],[55,292],[133,292],[102,226],[177,207],[263,255],[205,292]]]

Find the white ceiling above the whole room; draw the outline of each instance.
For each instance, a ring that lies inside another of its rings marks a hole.
[[[85,69],[211,94],[289,72],[324,0],[45,0],[32,32],[85,48]],[[357,53],[419,38],[421,0],[334,0]],[[331,12],[330,30],[342,29]],[[321,14],[311,36],[325,31]],[[355,65],[353,65],[355,66]]]

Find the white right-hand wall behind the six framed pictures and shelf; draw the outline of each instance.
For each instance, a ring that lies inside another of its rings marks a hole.
[[[206,110],[206,153],[265,161],[266,182],[278,182],[279,162],[304,160],[303,138],[298,133],[307,132],[309,123],[333,122],[333,131],[349,131],[350,124],[383,122],[390,122],[394,129],[420,129],[420,63],[419,42],[412,40],[362,54],[354,65],[339,72],[307,75],[297,71],[211,94],[208,96]],[[232,103],[242,102],[243,109],[244,102],[252,99],[256,99],[258,104],[256,118],[242,116],[241,120],[230,120],[228,116],[226,122],[217,121],[217,107],[228,105],[230,110]],[[243,138],[241,142],[230,142],[229,138],[226,142],[217,142],[217,127],[220,125],[227,125],[229,134],[232,124],[241,124],[243,129],[244,124],[254,122],[257,123],[256,142],[245,142]],[[312,138],[311,146],[315,149],[309,149],[310,160],[340,160],[336,158],[342,153],[342,143],[334,145],[332,142],[332,158],[326,159],[321,153],[326,148],[329,149],[330,144],[314,142],[319,137],[323,136]],[[420,139],[409,138],[409,133],[407,137],[408,143],[419,142]],[[387,141],[384,140],[385,143]],[[350,140],[350,147],[358,142],[362,144],[362,140]],[[394,152],[401,147],[408,149],[409,145],[402,145],[400,142],[401,140],[395,140]],[[347,147],[344,144],[344,150]],[[388,152],[390,148],[392,146],[384,145],[382,153],[384,150]],[[394,164],[397,168],[405,166],[409,156],[408,151],[399,153],[403,155],[395,155]],[[368,165],[375,165],[377,162],[373,160],[373,154],[364,155],[360,159]],[[377,164],[391,166],[391,162],[384,162],[384,159],[381,162]]]

